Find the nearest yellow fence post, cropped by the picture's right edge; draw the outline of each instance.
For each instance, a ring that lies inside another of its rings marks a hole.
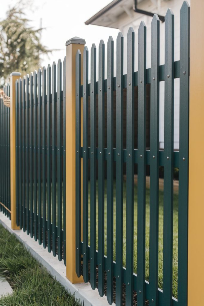
[[[204,302],[204,1],[191,1],[188,306]]]

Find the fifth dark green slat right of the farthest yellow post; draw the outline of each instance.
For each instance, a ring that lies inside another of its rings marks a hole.
[[[33,73],[30,74],[30,134],[29,134],[29,147],[30,147],[30,234],[33,237]]]

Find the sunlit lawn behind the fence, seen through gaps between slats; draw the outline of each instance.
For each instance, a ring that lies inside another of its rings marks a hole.
[[[98,183],[98,182],[97,182]],[[105,181],[106,183],[106,181]],[[96,185],[96,191],[98,185]],[[89,184],[90,195],[90,184]],[[98,244],[98,192],[96,192],[96,239]],[[123,187],[123,265],[125,267],[125,249],[126,249],[126,182]],[[115,260],[115,182],[114,182],[114,204],[113,204],[113,256]],[[149,237],[150,237],[150,190],[146,189],[146,279],[149,280]],[[90,197],[89,197],[89,244],[90,244]],[[105,254],[106,254],[106,184],[105,184]],[[159,191],[159,269],[158,269],[158,286],[162,289],[163,273],[163,191]],[[177,271],[178,271],[178,195],[174,194],[173,209],[173,296],[177,297]],[[134,272],[137,273],[137,186],[134,190]]]

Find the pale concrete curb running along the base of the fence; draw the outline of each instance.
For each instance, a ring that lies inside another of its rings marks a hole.
[[[0,224],[4,226],[10,233],[14,234],[24,246],[31,252],[44,267],[50,272],[50,274],[56,278],[72,295],[79,299],[84,306],[108,306],[106,296],[100,297],[98,289],[91,289],[89,283],[72,284],[66,278],[66,267],[64,263],[54,257],[52,253],[49,253],[47,248],[44,249],[43,245],[40,245],[38,241],[31,238],[23,230],[12,230],[11,221],[2,212],[0,212]],[[114,305],[114,304],[113,304]]]

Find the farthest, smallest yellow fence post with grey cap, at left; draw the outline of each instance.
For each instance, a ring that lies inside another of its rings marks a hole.
[[[16,80],[20,72],[10,74],[10,179],[11,179],[11,228],[19,230],[16,225]]]

